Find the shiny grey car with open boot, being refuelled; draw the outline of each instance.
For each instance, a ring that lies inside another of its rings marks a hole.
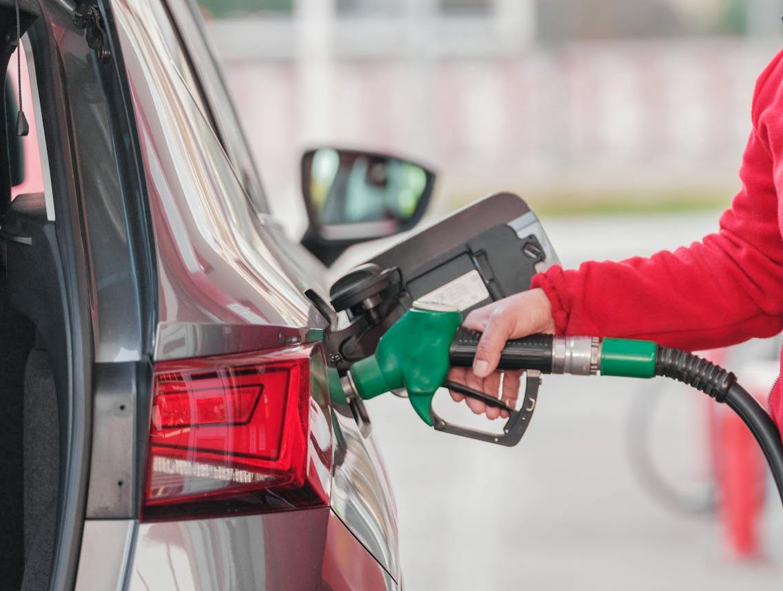
[[[330,401],[304,294],[328,297],[318,259],[415,224],[431,173],[308,153],[303,246],[195,5],[0,0],[0,27],[6,60],[23,48],[0,166],[2,589],[401,588],[384,466],[364,413]]]

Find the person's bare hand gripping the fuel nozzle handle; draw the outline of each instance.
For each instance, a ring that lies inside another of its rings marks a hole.
[[[500,351],[503,351],[509,339],[536,333],[554,333],[554,317],[547,294],[535,289],[493,301],[468,314],[464,326],[483,333],[481,341],[478,341],[473,367],[453,367],[446,379],[498,396],[506,405],[514,406],[519,394],[521,372],[496,371]],[[451,397],[455,402],[466,400],[474,413],[485,413],[489,419],[508,416],[506,410],[488,407],[480,400],[467,398],[457,392],[452,391]]]

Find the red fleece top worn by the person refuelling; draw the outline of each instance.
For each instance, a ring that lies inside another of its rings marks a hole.
[[[783,330],[783,52],[756,82],[742,189],[701,242],[650,258],[559,266],[533,279],[560,334],[649,339],[690,351]],[[633,236],[629,236],[633,240]],[[783,358],[781,358],[783,363]],[[783,391],[770,412],[783,431]]]

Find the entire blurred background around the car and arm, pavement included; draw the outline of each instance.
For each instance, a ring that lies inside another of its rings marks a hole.
[[[430,218],[519,193],[567,266],[716,228],[783,33],[772,0],[200,3],[292,236],[300,154],[329,143],[430,164]],[[763,398],[776,347],[720,355]],[[682,387],[547,380],[510,450],[435,434],[388,398],[370,412],[407,589],[780,588],[779,506],[763,471],[731,488],[723,460],[757,457],[725,449],[742,430]]]

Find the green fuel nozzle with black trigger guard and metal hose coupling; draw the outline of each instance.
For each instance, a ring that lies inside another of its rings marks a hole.
[[[417,301],[381,337],[373,355],[353,363],[343,379],[343,391],[368,400],[405,388],[410,404],[424,423],[438,431],[515,445],[524,433],[536,406],[540,375],[560,373],[653,377],[657,346],[646,341],[597,337],[562,337],[535,334],[508,341],[500,355],[499,369],[524,371],[525,394],[521,406],[511,408],[484,392],[464,384],[446,382],[450,366],[469,367],[482,333],[460,327],[462,315],[453,307]],[[499,406],[510,419],[503,434],[488,434],[448,423],[432,409],[439,387]]]

